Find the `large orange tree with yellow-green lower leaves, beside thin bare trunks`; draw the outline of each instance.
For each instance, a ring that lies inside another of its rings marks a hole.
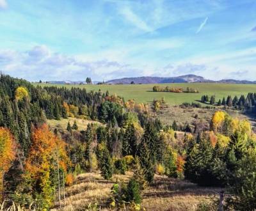
[[[61,200],[60,184],[63,182],[60,181],[60,174],[63,172],[64,175],[67,171],[70,160],[67,157],[65,143],[52,134],[46,124],[35,129],[32,139],[33,143],[25,165],[27,174],[24,178],[30,178],[33,190],[42,198],[38,201],[38,206],[48,210],[52,206],[56,186]],[[63,177],[62,179],[64,180]]]

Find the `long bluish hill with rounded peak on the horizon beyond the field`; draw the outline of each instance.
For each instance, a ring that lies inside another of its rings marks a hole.
[[[202,76],[198,75],[181,75],[177,77],[125,77],[123,79],[114,79],[108,81],[109,84],[161,84],[161,83],[181,83],[181,82],[213,82],[204,79]]]

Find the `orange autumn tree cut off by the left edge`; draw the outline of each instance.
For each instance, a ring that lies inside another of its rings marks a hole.
[[[4,201],[4,175],[15,159],[15,141],[10,130],[0,127],[0,191]]]

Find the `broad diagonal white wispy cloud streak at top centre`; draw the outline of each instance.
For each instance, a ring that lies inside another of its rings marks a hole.
[[[152,31],[152,27],[142,20],[138,15],[132,12],[131,8],[125,6],[120,10],[120,13],[125,17],[126,20],[131,22],[134,26],[138,27],[143,31]]]

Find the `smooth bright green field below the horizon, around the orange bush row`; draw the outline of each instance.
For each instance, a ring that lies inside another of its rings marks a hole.
[[[35,84],[38,85],[38,84]],[[216,83],[186,83],[186,84],[127,84],[127,85],[62,85],[62,84],[39,84],[40,86],[66,86],[67,88],[79,87],[86,90],[102,90],[120,95],[125,100],[134,99],[136,102],[152,102],[154,99],[164,100],[170,105],[180,105],[182,102],[195,102],[200,100],[202,95],[215,95],[216,100],[231,95],[247,95],[248,92],[256,91],[256,84],[216,84]],[[153,92],[153,86],[170,86],[175,88],[195,88],[200,93],[165,93]]]

